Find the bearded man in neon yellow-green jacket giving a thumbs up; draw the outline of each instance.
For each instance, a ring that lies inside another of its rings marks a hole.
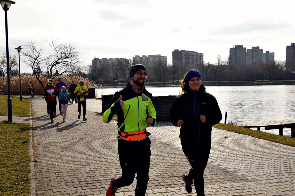
[[[135,196],[144,196],[148,186],[150,169],[150,135],[146,128],[156,123],[156,111],[152,94],[144,86],[148,76],[145,66],[131,67],[131,81],[114,94],[103,121],[108,123],[117,112],[118,151],[122,176],[113,177],[106,196],[115,195],[119,187],[130,185],[137,173]]]

